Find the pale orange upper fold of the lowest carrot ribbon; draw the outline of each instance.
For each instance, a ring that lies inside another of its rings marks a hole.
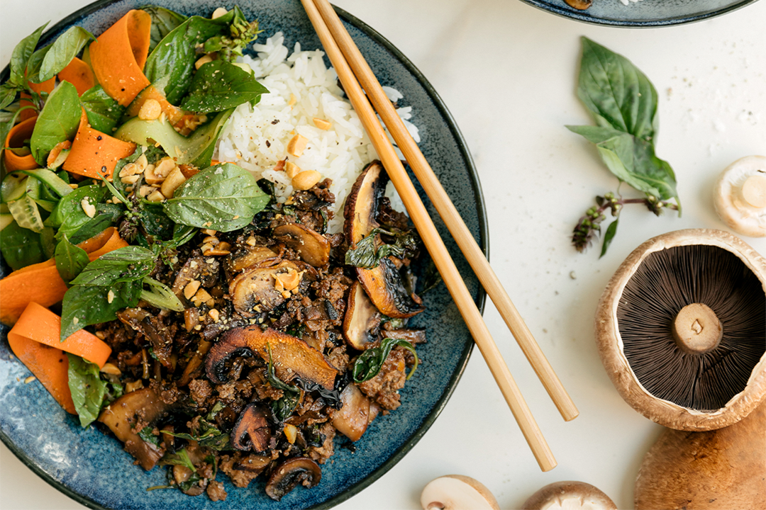
[[[8,331],[11,335],[21,336],[44,343],[64,352],[80,356],[91,363],[103,367],[112,353],[112,348],[103,342],[98,336],[88,333],[86,330],[76,331],[61,342],[61,317],[42,307],[37,303],[30,303],[18,317],[15,325]]]

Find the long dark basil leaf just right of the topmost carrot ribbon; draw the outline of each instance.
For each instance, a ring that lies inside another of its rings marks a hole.
[[[195,62],[199,58],[197,47],[215,35],[228,35],[234,11],[220,18],[208,19],[192,16],[167,34],[146,60],[144,74],[151,83],[167,80],[165,97],[178,104],[191,85]]]

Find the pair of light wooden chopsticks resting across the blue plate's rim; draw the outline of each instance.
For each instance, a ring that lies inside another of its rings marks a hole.
[[[506,398],[513,416],[516,417],[540,469],[543,471],[553,469],[556,466],[553,453],[548,447],[548,443],[545,442],[545,437],[542,436],[542,432],[537,426],[532,412],[529,411],[519,387],[513,380],[506,362],[502,359],[502,355],[489,333],[481,313],[476,308],[463,278],[450,258],[447,247],[440,238],[430,216],[428,216],[425,206],[394,151],[393,145],[378,122],[375,110],[385,122],[388,131],[410,164],[417,180],[420,181],[428,197],[436,206],[457,245],[466,255],[471,268],[495,303],[513,336],[516,337],[516,341],[565,421],[573,420],[578,415],[574,402],[571,401],[567,391],[561,385],[561,381],[559,381],[548,360],[545,359],[545,355],[535,342],[518,310],[513,306],[495,272],[489,266],[489,262],[479,245],[476,244],[468,227],[463,223],[460,213],[455,209],[424,155],[417,148],[417,144],[399,118],[391,101],[388,100],[365,58],[362,57],[351,36],[343,27],[332,5],[329,4],[328,0],[301,0],[301,2],[303,2],[303,7],[319,35],[319,40],[322,41],[322,46],[325,48],[332,66],[338,73],[345,93],[349,96],[359,119],[362,121],[375,151],[378,152],[383,166],[388,171],[388,176],[391,177],[404,206],[407,207],[417,232],[423,239],[431,258],[434,259],[434,263],[453,300],[455,300],[473,339],[476,341],[476,345],[479,346],[479,350],[489,365],[489,370],[499,385],[502,395]],[[370,101],[375,106],[375,110],[372,109]]]

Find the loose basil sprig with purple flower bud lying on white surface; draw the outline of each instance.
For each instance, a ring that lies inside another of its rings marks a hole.
[[[680,213],[676,174],[667,161],[655,154],[659,126],[657,91],[630,60],[582,37],[578,97],[597,125],[567,128],[596,145],[604,164],[620,183],[645,194],[641,199],[617,198],[618,193],[597,197],[597,205],[578,221],[572,242],[583,252],[601,231],[604,213],[610,210],[614,222],[604,234],[601,249],[604,256],[617,233],[619,214],[625,204],[643,203],[658,216],[665,209]]]

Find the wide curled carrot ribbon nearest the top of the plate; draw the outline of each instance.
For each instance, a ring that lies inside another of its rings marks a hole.
[[[149,55],[151,30],[149,13],[134,9],[90,44],[90,63],[96,79],[122,106],[128,106],[150,84],[143,67]]]

